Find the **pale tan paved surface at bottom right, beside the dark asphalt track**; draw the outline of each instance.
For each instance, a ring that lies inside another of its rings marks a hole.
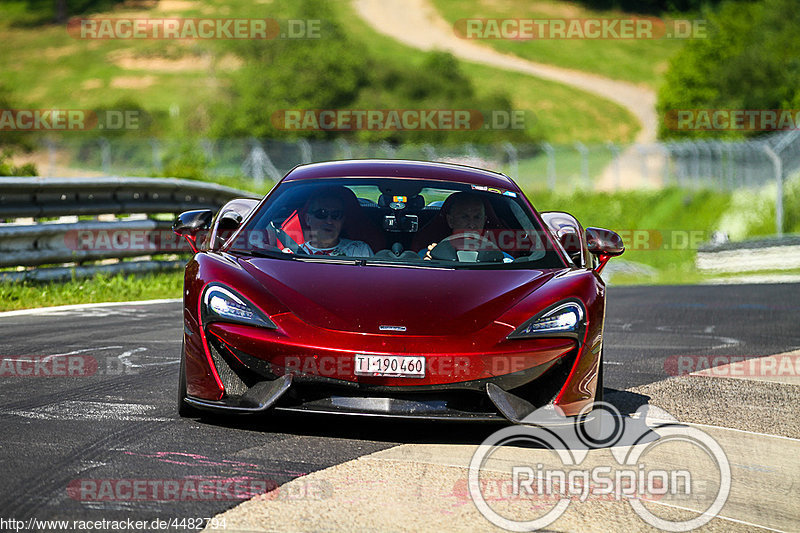
[[[625,414],[648,404],[655,416],[663,409],[684,422],[721,426],[702,429],[720,442],[731,462],[733,492],[723,508],[724,518],[714,518],[696,531],[791,530],[800,526],[793,500],[785,497],[792,492],[788,485],[794,486],[793,476],[800,468],[800,441],[793,439],[800,437],[800,421],[794,416],[800,407],[800,386],[681,376],[626,391],[608,391],[606,400]],[[275,493],[219,516],[226,519],[228,530],[236,531],[504,531],[490,524],[470,499],[467,465],[474,449],[473,445],[401,445],[295,479]],[[526,464],[535,464],[547,461],[552,452],[518,449],[512,453],[517,454],[515,460],[524,457]],[[610,457],[603,458],[606,450],[591,453],[594,464],[610,464]],[[676,460],[671,456],[664,459],[665,464]],[[487,479],[492,475],[489,472]],[[308,487],[325,490],[318,490],[320,497],[303,501],[291,497],[308,495]],[[530,508],[521,511],[519,505],[519,501],[506,498],[491,503],[498,512],[506,510],[509,514],[505,516],[530,513]],[[680,506],[645,506],[666,520],[697,516]],[[609,530],[659,531],[643,522],[627,502],[591,498],[571,504],[547,528]]]

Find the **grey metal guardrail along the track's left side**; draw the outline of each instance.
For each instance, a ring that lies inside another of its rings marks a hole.
[[[171,231],[171,220],[147,218],[190,209],[219,209],[249,192],[214,183],[173,178],[4,178],[0,219],[134,215],[128,220],[0,223],[0,267],[59,265],[58,269],[0,272],[0,280],[58,279],[98,271],[160,270],[160,262],[80,266],[108,259],[190,252]],[[138,217],[138,218],[136,218]],[[64,268],[75,263],[79,268]],[[170,262],[171,265],[175,261]],[[48,270],[49,272],[43,272]]]

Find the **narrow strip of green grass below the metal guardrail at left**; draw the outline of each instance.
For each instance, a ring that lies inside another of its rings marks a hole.
[[[0,311],[96,302],[180,298],[183,271],[97,275],[67,282],[0,282]]]

